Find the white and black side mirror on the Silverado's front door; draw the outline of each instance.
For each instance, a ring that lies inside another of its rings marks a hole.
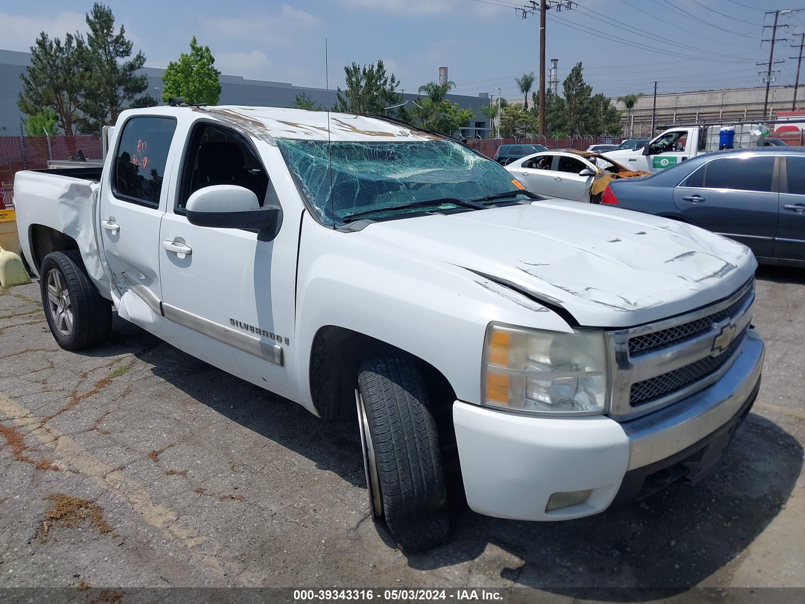
[[[277,236],[283,211],[261,208],[254,192],[237,184],[213,184],[192,193],[184,205],[188,222],[221,229],[256,229],[260,241]]]

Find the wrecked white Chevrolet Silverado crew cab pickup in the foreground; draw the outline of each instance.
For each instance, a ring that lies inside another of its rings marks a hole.
[[[382,118],[152,107],[124,111],[109,149],[102,171],[14,182],[56,341],[101,345],[114,304],[356,416],[371,513],[405,551],[447,539],[450,468],[481,514],[592,515],[704,476],[758,394],[740,243],[539,198]]]

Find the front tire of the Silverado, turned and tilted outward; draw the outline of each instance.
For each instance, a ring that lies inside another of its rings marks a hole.
[[[383,515],[403,552],[448,540],[448,493],[436,420],[423,375],[406,354],[364,362],[358,390],[366,411]]]

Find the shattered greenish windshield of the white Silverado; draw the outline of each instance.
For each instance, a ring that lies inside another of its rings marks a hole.
[[[445,198],[477,200],[519,188],[500,164],[448,140],[276,141],[320,220],[328,226],[344,225],[345,218],[356,213],[377,210],[372,217],[402,217],[423,211],[421,205],[407,212],[391,209]],[[329,158],[328,144],[332,144]],[[328,161],[332,162],[332,188]]]

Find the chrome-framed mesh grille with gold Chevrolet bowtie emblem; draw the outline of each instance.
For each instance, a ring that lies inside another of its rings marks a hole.
[[[716,304],[663,321],[607,332],[612,367],[609,416],[618,421],[630,420],[675,403],[720,379],[741,354],[753,304],[754,279],[749,279],[732,296]],[[732,329],[735,336],[726,349],[714,350],[716,338]],[[635,340],[640,344],[633,345]],[[665,343],[642,347],[647,341]]]

